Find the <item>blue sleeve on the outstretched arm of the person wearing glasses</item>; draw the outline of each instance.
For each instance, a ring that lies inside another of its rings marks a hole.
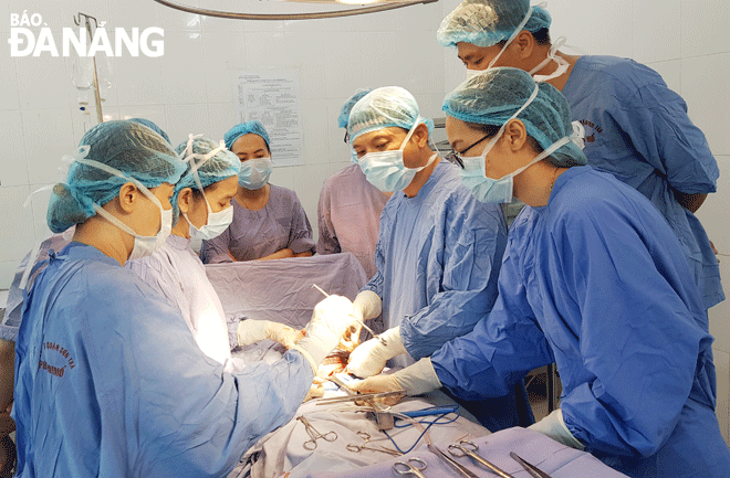
[[[445,343],[431,355],[441,384],[463,400],[513,393],[530,370],[554,361],[545,336],[528,304],[514,259],[505,253],[499,297],[474,329]]]

